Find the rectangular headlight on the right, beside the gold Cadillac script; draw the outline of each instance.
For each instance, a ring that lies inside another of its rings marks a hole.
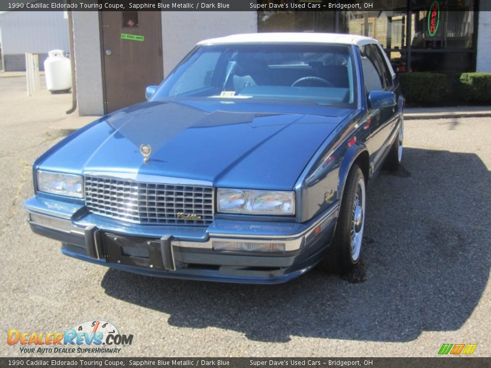
[[[217,204],[222,213],[295,215],[294,192],[219,188]]]

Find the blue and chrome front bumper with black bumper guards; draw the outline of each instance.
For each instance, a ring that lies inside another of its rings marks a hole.
[[[81,204],[40,196],[25,202],[34,233],[60,240],[63,254],[146,275],[236,283],[281,283],[322,258],[338,204],[308,223],[215,219],[208,227],[125,223]],[[281,252],[219,251],[214,241],[284,244]]]

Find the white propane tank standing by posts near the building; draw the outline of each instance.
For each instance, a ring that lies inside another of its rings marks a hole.
[[[51,93],[69,91],[72,88],[72,64],[63,50],[48,52],[48,58],[44,60],[44,74],[46,86]]]

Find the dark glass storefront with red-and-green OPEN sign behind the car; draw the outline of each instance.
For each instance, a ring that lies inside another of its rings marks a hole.
[[[285,0],[258,0],[264,2],[280,4]],[[259,11],[258,31],[364,35],[382,44],[399,73],[469,72],[475,70],[477,3],[478,0],[385,0],[383,9],[371,11]]]

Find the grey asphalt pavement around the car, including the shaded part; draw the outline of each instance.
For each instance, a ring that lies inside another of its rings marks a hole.
[[[23,201],[35,157],[92,120],[66,117],[70,107],[69,94],[28,98],[24,79],[0,78],[1,356],[41,356],[9,346],[9,329],[95,319],[134,335],[117,356],[435,357],[443,343],[491,356],[489,118],[405,123],[403,165],[369,184],[353,273],[256,286],[125,273],[33,234]]]

